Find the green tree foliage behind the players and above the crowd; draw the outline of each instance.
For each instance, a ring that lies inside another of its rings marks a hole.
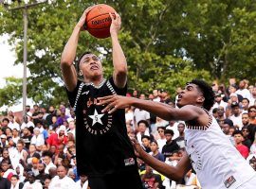
[[[119,41],[128,61],[130,89],[147,93],[165,88],[174,93],[193,77],[208,81],[247,77],[255,81],[253,0],[51,1],[28,9],[27,67],[31,76],[27,95],[35,102],[58,104],[66,100],[59,66],[61,53],[83,9],[98,3],[114,7],[122,18]],[[16,6],[15,1],[9,8]],[[9,34],[18,57],[15,63],[22,63],[22,11],[4,7],[0,11],[0,34]],[[84,51],[99,52],[106,77],[111,75],[110,39],[98,40],[83,32],[78,56]],[[0,105],[21,96],[1,94]],[[3,101],[4,97],[9,100]]]

